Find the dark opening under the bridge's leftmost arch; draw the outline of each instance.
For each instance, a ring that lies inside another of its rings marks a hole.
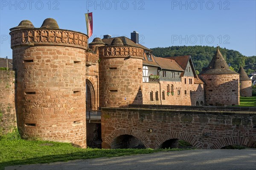
[[[145,145],[138,138],[132,135],[120,135],[116,137],[112,144],[111,149],[145,149]]]

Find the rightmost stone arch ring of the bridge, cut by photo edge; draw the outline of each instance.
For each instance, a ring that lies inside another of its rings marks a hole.
[[[223,137],[220,139],[216,139],[212,143],[212,147],[210,149],[221,149],[222,147],[229,146],[229,145],[244,145],[246,147],[256,147],[256,141],[250,138],[244,137]]]

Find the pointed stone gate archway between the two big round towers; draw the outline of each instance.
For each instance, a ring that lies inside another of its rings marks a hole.
[[[86,110],[96,110],[95,90],[90,80],[86,79]]]

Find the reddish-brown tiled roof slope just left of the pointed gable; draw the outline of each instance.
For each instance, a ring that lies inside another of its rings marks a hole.
[[[180,67],[180,65],[175,60],[170,60],[167,58],[160,58],[160,57],[154,57],[154,60],[158,63],[158,65],[162,69],[175,70],[175,71],[180,71],[180,72],[184,71],[184,69],[182,69]]]

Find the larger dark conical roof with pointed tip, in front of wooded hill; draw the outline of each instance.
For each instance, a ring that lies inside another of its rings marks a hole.
[[[238,74],[229,69],[224,57],[222,56],[221,52],[218,49],[212,58],[212,61],[209,63],[209,66],[203,70],[200,75],[202,74]]]

